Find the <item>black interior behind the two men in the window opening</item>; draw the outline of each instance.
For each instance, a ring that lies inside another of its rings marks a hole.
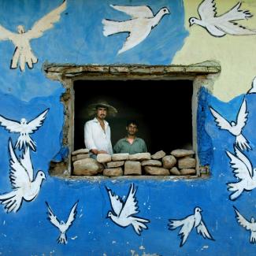
[[[191,80],[78,80],[74,90],[75,150],[85,147],[83,126],[93,118],[87,106],[98,99],[118,110],[116,117],[106,118],[113,146],[126,135],[126,122],[132,119],[138,121],[137,136],[151,154],[192,147]]]

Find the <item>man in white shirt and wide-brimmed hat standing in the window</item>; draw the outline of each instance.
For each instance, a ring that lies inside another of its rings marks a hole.
[[[105,118],[108,114],[114,116],[117,109],[108,102],[98,101],[88,107],[88,113],[95,114],[95,118],[84,125],[84,143],[91,158],[96,158],[97,154],[113,154],[110,127]]]

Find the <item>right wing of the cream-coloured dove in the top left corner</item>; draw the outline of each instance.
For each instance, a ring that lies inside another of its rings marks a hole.
[[[43,32],[53,28],[54,23],[60,20],[61,13],[66,9],[66,6],[67,2],[64,0],[61,6],[58,6],[56,9],[46,14],[46,16],[36,21],[33,27],[28,32],[26,32],[28,39],[39,38],[43,35]]]

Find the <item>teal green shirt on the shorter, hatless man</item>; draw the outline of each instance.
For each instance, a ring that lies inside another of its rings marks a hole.
[[[132,144],[128,143],[126,138],[119,139],[116,145],[113,147],[114,153],[145,153],[147,152],[147,146],[143,139],[135,138]]]

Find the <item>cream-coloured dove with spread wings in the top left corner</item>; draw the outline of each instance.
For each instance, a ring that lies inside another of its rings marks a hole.
[[[17,33],[10,32],[8,29],[0,25],[0,40],[10,40],[15,46],[10,69],[17,69],[17,67],[20,66],[20,70],[24,71],[25,64],[28,65],[29,69],[33,69],[33,65],[38,61],[38,58],[33,54],[32,47],[30,46],[30,40],[43,36],[43,32],[53,28],[54,23],[60,20],[61,13],[65,8],[66,1],[64,1],[61,6],[58,6],[58,8],[46,14],[46,16],[40,20],[37,20],[32,28],[27,32],[21,24],[17,26]]]

